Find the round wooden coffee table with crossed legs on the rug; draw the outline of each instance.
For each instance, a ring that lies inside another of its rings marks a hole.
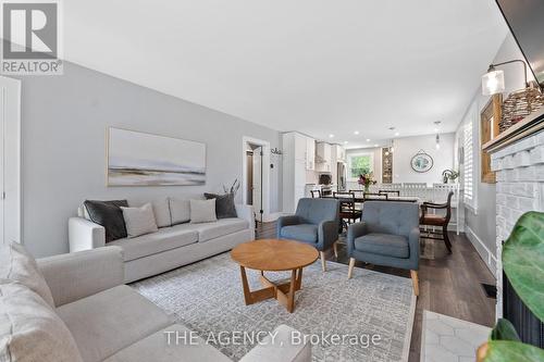
[[[277,239],[244,242],[231,251],[232,259],[239,264],[242,286],[246,305],[275,298],[289,313],[295,310],[295,291],[302,284],[302,267],[318,260],[319,252],[310,245]],[[246,267],[261,271],[260,282],[264,288],[249,290]],[[264,272],[292,271],[290,282],[276,285]]]

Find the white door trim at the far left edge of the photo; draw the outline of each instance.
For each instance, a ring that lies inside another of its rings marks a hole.
[[[21,80],[0,76],[0,245],[21,242]]]

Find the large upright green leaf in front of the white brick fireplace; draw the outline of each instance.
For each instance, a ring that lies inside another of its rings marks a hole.
[[[544,321],[544,213],[521,215],[503,246],[503,267],[516,292]]]

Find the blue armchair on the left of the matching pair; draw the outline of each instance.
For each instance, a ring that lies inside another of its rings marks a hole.
[[[326,271],[324,251],[338,240],[338,201],[336,199],[300,199],[295,215],[277,219],[277,238],[309,244],[319,250],[321,267]]]

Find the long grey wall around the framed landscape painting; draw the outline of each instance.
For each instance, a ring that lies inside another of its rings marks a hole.
[[[20,78],[23,242],[36,257],[69,251],[67,219],[87,198],[146,201],[220,191],[242,180],[243,136],[281,147],[273,129],[75,64],[65,63],[62,76]],[[206,186],[106,187],[108,126],[206,142]],[[272,162],[275,212],[281,210],[281,162]]]

